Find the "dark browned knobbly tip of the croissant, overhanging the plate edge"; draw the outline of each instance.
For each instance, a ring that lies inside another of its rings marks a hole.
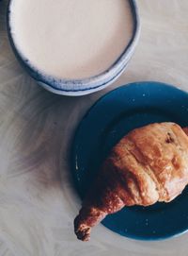
[[[90,230],[90,227],[79,221],[79,216],[74,219],[74,232],[79,240],[84,242],[89,241]]]

